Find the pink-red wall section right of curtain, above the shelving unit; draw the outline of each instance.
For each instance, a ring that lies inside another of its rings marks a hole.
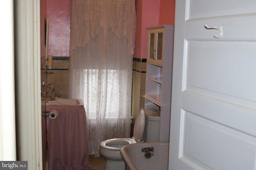
[[[147,27],[174,25],[175,0],[136,0],[136,42],[134,57],[147,58]]]

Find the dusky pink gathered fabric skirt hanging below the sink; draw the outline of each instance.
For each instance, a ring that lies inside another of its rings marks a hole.
[[[84,106],[48,105],[46,118],[49,170],[90,169]]]

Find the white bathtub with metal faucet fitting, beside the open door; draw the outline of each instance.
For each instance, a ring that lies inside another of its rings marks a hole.
[[[153,156],[144,157],[142,148],[153,147]],[[122,147],[120,151],[127,170],[168,170],[169,143],[134,143]]]

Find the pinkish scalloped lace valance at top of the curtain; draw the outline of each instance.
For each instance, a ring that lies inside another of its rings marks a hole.
[[[90,36],[96,38],[100,27],[110,29],[121,39],[135,45],[136,9],[135,0],[72,0],[70,51],[85,47]]]

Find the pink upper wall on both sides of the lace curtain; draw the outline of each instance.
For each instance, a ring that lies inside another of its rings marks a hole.
[[[69,56],[71,0],[46,0],[49,19],[48,55]],[[174,25],[175,0],[136,0],[134,57],[147,58],[147,27]]]

